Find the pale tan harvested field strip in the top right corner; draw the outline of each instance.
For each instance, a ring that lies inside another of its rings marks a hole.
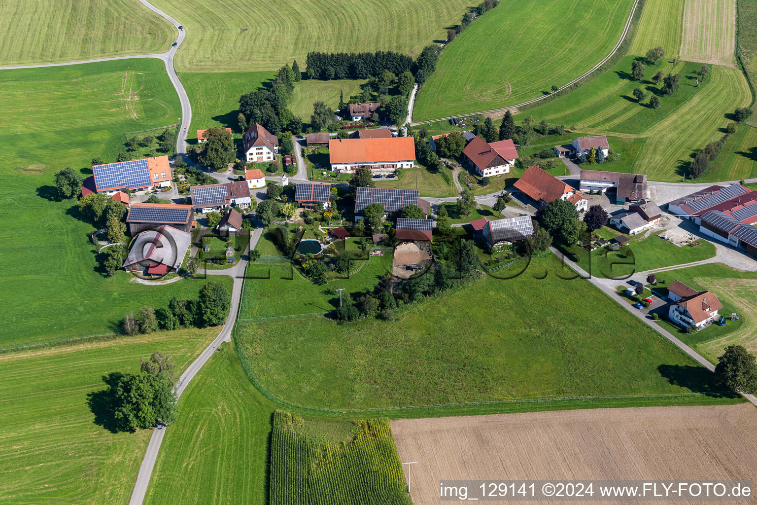
[[[681,59],[735,67],[735,45],[736,0],[686,0]]]

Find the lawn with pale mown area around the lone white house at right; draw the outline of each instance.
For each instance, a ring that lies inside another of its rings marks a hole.
[[[723,354],[727,345],[743,345],[750,352],[757,351],[757,273],[740,272],[721,263],[708,263],[696,267],[687,267],[658,275],[657,285],[650,286],[659,295],[668,295],[668,285],[679,280],[691,288],[700,291],[712,291],[723,304],[719,313],[731,316],[731,312],[740,315],[738,321],[727,322],[726,326],[711,324],[706,329],[688,335],[666,321],[660,324],[678,338],[687,342],[699,354],[712,363]]]

